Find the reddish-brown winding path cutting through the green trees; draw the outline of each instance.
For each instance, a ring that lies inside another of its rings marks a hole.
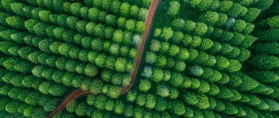
[[[144,31],[144,34],[143,34],[142,44],[140,44],[138,46],[138,49],[137,49],[138,55],[137,55],[137,57],[134,60],[135,69],[130,74],[132,80],[130,81],[130,84],[128,86],[125,86],[125,87],[121,88],[121,91],[120,91],[119,95],[122,95],[122,94],[126,93],[132,87],[132,85],[133,85],[133,83],[135,81],[135,77],[136,77],[138,69],[139,69],[139,62],[140,62],[140,59],[141,59],[141,56],[142,56],[142,53],[143,53],[143,49],[144,49],[144,44],[145,44],[145,41],[147,39],[147,36],[148,36],[148,33],[149,33],[149,29],[150,29],[150,25],[151,25],[151,22],[153,20],[153,16],[154,16],[155,10],[157,8],[158,2],[159,2],[159,0],[153,0],[151,5],[150,5],[150,8],[148,10],[148,15],[147,15],[147,17],[145,19],[146,28],[145,28],[145,31]],[[83,91],[81,88],[76,89],[74,92],[72,92],[69,95],[67,95],[66,98],[64,98],[64,100],[62,100],[62,103],[57,108],[55,108],[55,110],[53,112],[51,112],[47,116],[47,118],[52,118],[58,112],[64,110],[64,108],[69,104],[69,102],[71,102],[72,100],[76,99],[77,97],[88,95],[90,93],[91,93],[90,91]]]

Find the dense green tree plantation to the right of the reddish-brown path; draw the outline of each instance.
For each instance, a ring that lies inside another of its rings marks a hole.
[[[277,118],[276,6],[273,0],[162,1],[138,88],[127,101],[144,107],[144,117],[148,108],[164,118]]]

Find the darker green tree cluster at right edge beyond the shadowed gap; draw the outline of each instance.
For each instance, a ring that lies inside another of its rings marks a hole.
[[[278,2],[275,2],[278,5]],[[276,5],[274,5],[276,6]],[[269,8],[272,9],[272,8]],[[270,12],[255,24],[255,35],[259,37],[256,43],[252,44],[251,58],[245,64],[250,66],[245,71],[253,79],[258,80],[263,85],[268,85],[268,89],[272,89],[270,98],[277,99],[278,92],[278,67],[279,67],[279,50],[278,50],[278,32],[279,32],[279,16],[274,11],[266,10],[263,14]]]

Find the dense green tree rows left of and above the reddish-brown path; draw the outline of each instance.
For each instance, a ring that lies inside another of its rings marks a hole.
[[[150,3],[0,0],[0,117],[44,118],[76,88],[118,98]],[[83,116],[86,106],[55,117]]]

